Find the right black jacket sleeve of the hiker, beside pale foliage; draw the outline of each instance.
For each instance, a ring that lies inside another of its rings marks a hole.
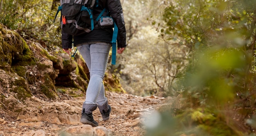
[[[126,47],[126,28],[120,0],[108,0],[108,10],[118,27],[117,47]]]

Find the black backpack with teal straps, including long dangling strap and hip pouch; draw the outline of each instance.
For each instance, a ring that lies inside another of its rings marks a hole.
[[[118,28],[112,17],[103,17],[106,8],[101,11],[97,19],[94,20],[93,8],[99,6],[99,0],[60,0],[61,5],[55,19],[61,11],[61,29],[69,35],[81,35],[89,33],[94,29],[95,24],[100,27],[112,27],[114,33],[112,36],[112,64],[116,61],[116,43]],[[77,48],[76,48],[77,49]],[[74,56],[74,55],[73,55]]]

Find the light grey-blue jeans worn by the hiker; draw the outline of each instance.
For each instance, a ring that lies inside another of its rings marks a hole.
[[[90,72],[85,104],[103,104],[106,100],[103,78],[111,43],[82,44],[77,47]]]

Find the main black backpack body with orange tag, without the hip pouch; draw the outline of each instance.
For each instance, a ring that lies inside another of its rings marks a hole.
[[[61,5],[55,15],[61,11],[61,29],[70,35],[81,35],[91,32],[98,20],[93,19],[93,8],[98,6],[98,0],[61,0]],[[105,12],[101,12],[100,16]],[[55,22],[54,19],[54,22]]]

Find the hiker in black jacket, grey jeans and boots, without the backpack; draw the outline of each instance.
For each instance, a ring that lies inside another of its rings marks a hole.
[[[93,15],[97,17],[106,8],[102,16],[111,15],[118,28],[117,34],[117,53],[124,52],[126,47],[126,29],[124,24],[123,9],[120,0],[99,0],[99,6],[93,9]],[[86,90],[85,101],[83,102],[82,116],[80,122],[98,126],[98,123],[92,117],[92,111],[97,107],[101,112],[103,121],[110,117],[111,106],[108,105],[108,99],[105,97],[103,78],[108,63],[108,54],[112,46],[113,28],[99,27],[95,25],[94,29],[85,34],[72,36],[62,32],[62,48],[70,54],[72,40],[83,56],[90,72],[90,81]]]

